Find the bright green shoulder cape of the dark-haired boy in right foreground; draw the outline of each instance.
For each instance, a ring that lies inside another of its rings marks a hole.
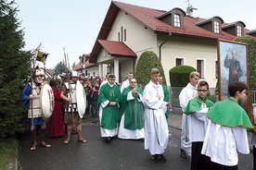
[[[214,123],[226,127],[252,128],[246,111],[231,98],[215,103],[206,115]]]

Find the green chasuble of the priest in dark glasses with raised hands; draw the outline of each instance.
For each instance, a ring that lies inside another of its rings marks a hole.
[[[137,91],[143,95],[143,91],[136,87]],[[124,113],[124,128],[135,130],[144,128],[144,105],[141,102],[138,102],[138,97],[134,95],[134,100],[127,101],[127,95],[129,91],[132,91],[134,88],[127,87],[122,91],[122,109],[121,116]],[[142,99],[140,99],[142,100]]]

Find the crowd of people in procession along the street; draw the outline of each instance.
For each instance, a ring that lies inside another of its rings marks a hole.
[[[121,85],[109,73],[105,79],[98,76],[87,78],[75,71],[69,79],[62,73],[58,79],[49,81],[55,107],[48,121],[44,120],[39,104],[42,77],[43,73],[35,70],[33,80],[24,86],[21,95],[23,104],[29,105],[32,151],[37,146],[36,126],[41,127],[40,144],[45,148],[51,147],[45,142],[45,135],[56,138],[64,136],[65,132],[65,144],[70,143],[71,133],[76,133],[78,141],[85,143],[81,121],[83,114],[87,114],[98,117],[100,136],[106,142],[109,143],[113,137],[144,140],[144,148],[149,151],[154,163],[167,161],[163,153],[169,141],[168,118],[172,104],[159,69],[151,70],[151,79],[144,90],[137,86],[133,72],[129,72]],[[246,111],[238,104],[246,100],[248,88],[242,82],[232,82],[228,86],[230,97],[213,103],[207,99],[208,82],[199,79],[197,71],[191,72],[187,86],[179,95],[184,113],[181,156],[185,159],[191,156],[191,170],[237,169],[237,153],[250,152],[247,131],[252,129],[252,124]],[[83,86],[83,91],[79,91],[78,85]],[[77,105],[78,92],[84,92],[86,108],[83,113]],[[256,109],[254,111],[256,113]],[[252,138],[255,139],[255,136],[252,135]],[[255,147],[253,152],[256,155]]]

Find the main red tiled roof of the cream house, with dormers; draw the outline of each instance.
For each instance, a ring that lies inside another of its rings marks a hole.
[[[223,39],[232,41],[236,36],[222,31],[221,34],[213,33],[209,30],[205,30],[196,25],[196,23],[205,20],[204,18],[192,18],[190,16],[184,17],[184,28],[176,28],[171,25],[161,21],[157,17],[166,13],[164,10],[152,9],[143,6],[134,6],[117,1],[111,1],[109,6],[109,11],[106,18],[103,21],[101,29],[97,35],[96,43],[91,52],[89,61],[91,63],[96,63],[97,55],[99,54],[102,44],[99,44],[97,40],[106,40],[111,30],[112,24],[119,12],[119,10],[124,11],[128,15],[139,20],[147,29],[153,30],[156,33],[172,33],[172,34],[182,34],[186,36],[197,36],[201,38],[211,38],[211,39]],[[226,23],[224,23],[226,24]]]

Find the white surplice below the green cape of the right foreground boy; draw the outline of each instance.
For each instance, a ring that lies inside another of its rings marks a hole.
[[[201,153],[213,163],[234,166],[238,164],[237,152],[250,153],[247,129],[221,126],[210,119]]]

